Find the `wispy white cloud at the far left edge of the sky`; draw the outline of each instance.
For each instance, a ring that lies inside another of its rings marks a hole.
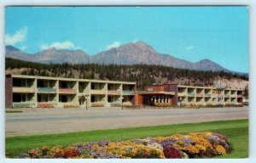
[[[23,26],[19,31],[16,31],[14,35],[5,35],[5,43],[7,45],[15,46],[18,42],[24,42],[26,40],[27,27]]]

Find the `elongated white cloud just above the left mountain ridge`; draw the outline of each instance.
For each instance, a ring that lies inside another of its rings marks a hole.
[[[73,42],[53,42],[52,44],[43,44],[40,49],[45,50],[48,48],[56,48],[56,49],[78,49],[79,47],[76,47]]]

